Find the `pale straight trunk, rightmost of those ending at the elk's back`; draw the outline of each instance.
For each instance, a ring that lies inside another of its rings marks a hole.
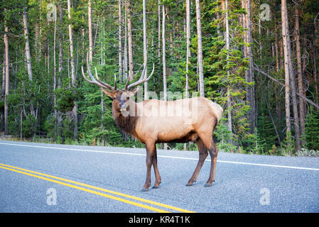
[[[198,31],[198,77],[200,86],[200,96],[205,96],[204,89],[204,72],[202,68],[202,26],[200,23],[200,0],[195,0],[196,3],[196,25]]]

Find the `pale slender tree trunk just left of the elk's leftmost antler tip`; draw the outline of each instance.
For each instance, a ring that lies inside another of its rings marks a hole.
[[[71,0],[67,0],[67,16],[69,20],[71,19]],[[75,77],[75,62],[74,62],[74,48],[73,48],[73,37],[72,37],[72,26],[69,24],[69,40],[70,40],[70,62],[71,62],[71,79],[72,79],[72,87],[73,94],[75,94],[75,89],[77,88],[76,77]],[[73,136],[77,138],[77,100],[74,101],[74,106],[72,109],[73,113],[73,121],[74,121],[74,130]]]

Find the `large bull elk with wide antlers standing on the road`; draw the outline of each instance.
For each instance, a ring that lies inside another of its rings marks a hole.
[[[196,182],[208,153],[210,153],[211,157],[210,177],[205,187],[212,186],[212,182],[215,181],[218,153],[212,139],[212,133],[222,116],[222,107],[205,97],[193,97],[175,101],[151,99],[136,103],[131,99],[138,90],[135,87],[148,81],[153,72],[154,65],[150,76],[145,76],[144,70],[138,81],[129,84],[129,79],[127,79],[124,89],[117,89],[116,79],[114,87],[112,87],[99,79],[96,69],[96,78],[94,78],[90,72],[88,60],[87,74],[90,79],[87,79],[82,67],[82,75],[85,81],[101,87],[102,91],[113,99],[112,116],[117,126],[146,145],[146,182],[142,191],[148,191],[148,188],[151,187],[152,165],[156,178],[153,188],[158,188],[159,184],[161,184],[161,176],[157,165],[156,143],[187,143],[195,141],[198,145],[199,160],[186,186],[191,186]],[[185,111],[180,114],[180,109]]]

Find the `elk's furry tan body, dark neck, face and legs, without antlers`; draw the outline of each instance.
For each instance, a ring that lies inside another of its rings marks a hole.
[[[122,98],[120,98],[119,94],[121,94]],[[211,186],[215,179],[217,160],[217,148],[212,140],[212,132],[221,118],[222,108],[218,104],[214,104],[212,101],[202,97],[185,99],[184,104],[178,104],[176,101],[159,101],[154,99],[141,101],[136,104],[134,101],[129,100],[126,101],[127,110],[129,111],[129,107],[133,105],[134,114],[136,115],[138,111],[142,111],[143,115],[123,116],[119,105],[123,102],[123,96],[124,98],[126,97],[122,91],[114,94],[112,113],[114,121],[123,131],[134,135],[141,143],[146,144],[147,174],[143,189],[148,190],[148,187],[151,186],[152,165],[156,175],[154,187],[159,187],[161,183],[161,176],[157,167],[156,143],[187,143],[189,141],[197,141],[200,159],[187,186],[196,182],[200,168],[208,153],[212,157],[212,162],[210,177],[205,186]],[[163,106],[166,106],[166,112],[161,116],[160,113]],[[195,116],[178,116],[176,110],[183,108],[183,106],[188,106],[190,113],[195,113]],[[195,112],[192,112],[194,109]],[[173,116],[168,114],[169,111],[173,111]]]

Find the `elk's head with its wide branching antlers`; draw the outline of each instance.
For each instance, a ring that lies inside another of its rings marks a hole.
[[[153,75],[154,72],[154,63],[153,63],[153,70],[149,77],[145,76],[145,66],[144,70],[141,73],[141,77],[139,78],[138,81],[129,84],[129,78],[127,78],[126,84],[124,89],[117,89],[117,79],[114,77],[114,87],[111,85],[103,82],[101,79],[99,79],[99,76],[97,75],[97,69],[95,68],[95,77],[93,77],[91,71],[90,71],[90,65],[89,65],[89,60],[87,57],[87,74],[89,75],[90,79],[87,79],[85,76],[85,72],[83,70],[82,66],[82,75],[85,79],[85,81],[91,83],[91,84],[96,84],[97,86],[102,88],[102,91],[109,96],[111,99],[113,99],[113,104],[112,106],[117,110],[117,111],[128,111],[129,110],[129,99],[131,96],[134,96],[136,92],[139,90],[139,88],[134,88],[138,86],[139,84],[142,84],[144,82],[147,82],[151,76]]]

